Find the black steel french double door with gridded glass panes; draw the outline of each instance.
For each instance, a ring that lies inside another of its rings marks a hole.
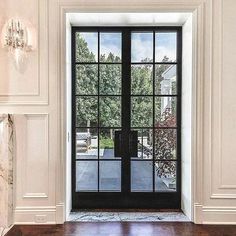
[[[72,204],[180,208],[181,27],[72,27]]]

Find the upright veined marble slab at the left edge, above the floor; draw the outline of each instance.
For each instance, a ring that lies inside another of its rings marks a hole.
[[[13,223],[13,118],[0,115],[0,228]]]

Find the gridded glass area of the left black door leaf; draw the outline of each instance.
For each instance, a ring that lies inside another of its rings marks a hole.
[[[120,192],[121,33],[75,33],[76,192]],[[99,55],[99,57],[98,57]]]

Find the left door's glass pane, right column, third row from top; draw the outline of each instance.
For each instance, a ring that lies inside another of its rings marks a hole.
[[[100,97],[100,126],[120,127],[121,126],[121,98]]]

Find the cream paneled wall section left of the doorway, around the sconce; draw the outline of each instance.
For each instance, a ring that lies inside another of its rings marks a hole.
[[[37,49],[28,53],[24,73],[15,69],[12,57],[0,48],[0,113],[21,114],[15,118],[14,213],[15,222],[19,223],[56,223],[61,208],[56,187],[61,147],[57,106],[59,73],[56,61],[49,63],[57,35],[48,40],[49,31],[55,29],[48,22],[48,3],[47,0],[0,1],[1,29],[7,19],[18,17],[33,24],[38,38]]]

